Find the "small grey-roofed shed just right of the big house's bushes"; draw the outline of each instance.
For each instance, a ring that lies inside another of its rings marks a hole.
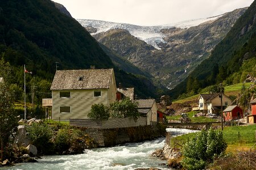
[[[147,125],[150,125],[151,122],[157,122],[158,107],[155,99],[140,99],[136,101],[139,104],[138,111],[141,113],[141,116],[147,117]]]

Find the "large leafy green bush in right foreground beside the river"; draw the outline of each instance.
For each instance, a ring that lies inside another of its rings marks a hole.
[[[184,159],[181,164],[187,169],[204,169],[214,157],[226,150],[227,144],[222,133],[213,129],[201,131],[183,147]]]

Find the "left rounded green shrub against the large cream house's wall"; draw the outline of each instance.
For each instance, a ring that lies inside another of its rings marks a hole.
[[[106,107],[104,104],[93,104],[92,109],[90,109],[90,112],[88,113],[88,117],[97,120],[108,120],[109,108]]]

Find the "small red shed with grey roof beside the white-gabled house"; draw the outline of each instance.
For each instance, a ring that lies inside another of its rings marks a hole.
[[[243,117],[243,110],[238,105],[230,105],[223,111],[225,121],[237,120]]]

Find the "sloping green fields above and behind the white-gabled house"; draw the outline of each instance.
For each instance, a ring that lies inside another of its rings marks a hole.
[[[254,84],[254,83],[245,83],[245,87],[249,88],[251,86],[251,84]],[[241,93],[242,86],[243,86],[243,83],[238,83],[238,84],[233,84],[233,85],[230,85],[230,86],[226,86],[226,87],[224,87],[224,93],[227,96],[230,96],[230,95],[235,95],[236,96],[236,95]],[[185,99],[174,101],[173,103],[184,103],[184,102],[187,102],[187,101],[193,101],[193,100],[197,100],[198,97],[199,97],[199,94],[191,96],[191,97],[187,97]]]

